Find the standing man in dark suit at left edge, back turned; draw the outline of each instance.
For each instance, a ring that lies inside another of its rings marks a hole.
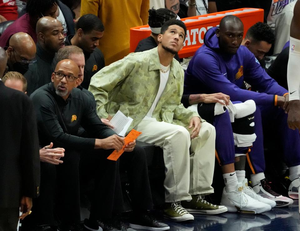
[[[0,77],[7,54],[0,48]],[[22,92],[0,81],[0,231],[17,230],[21,219],[31,213],[32,198],[39,195],[40,160],[37,124],[33,105]]]

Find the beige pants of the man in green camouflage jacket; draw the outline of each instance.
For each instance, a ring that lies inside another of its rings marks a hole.
[[[213,193],[215,128],[201,123],[198,137],[191,140],[192,129],[171,123],[143,119],[134,129],[143,132],[139,141],[163,149],[165,163],[165,202],[192,199],[191,195]]]

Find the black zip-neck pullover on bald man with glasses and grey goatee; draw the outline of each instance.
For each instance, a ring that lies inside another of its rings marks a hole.
[[[104,139],[116,134],[101,122],[91,99],[78,88],[73,88],[65,101],[55,93],[53,83],[48,83],[37,89],[30,98],[37,114],[42,147],[53,142],[55,147],[66,150],[94,149],[95,138]],[[94,138],[78,137],[80,126]]]

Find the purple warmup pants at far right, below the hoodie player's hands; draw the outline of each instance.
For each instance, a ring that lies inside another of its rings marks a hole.
[[[282,141],[284,161],[287,167],[300,165],[299,130],[288,128],[287,114],[284,113],[284,110],[275,106],[256,106],[254,123],[257,138],[249,154],[253,174],[261,173],[265,170],[262,123],[276,129],[274,136],[279,137]]]

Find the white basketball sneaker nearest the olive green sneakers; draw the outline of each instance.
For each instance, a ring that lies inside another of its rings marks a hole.
[[[242,183],[237,184],[235,191],[222,193],[221,205],[225,205],[228,212],[240,212],[245,214],[264,213],[271,210],[271,206],[248,196],[243,190]]]

